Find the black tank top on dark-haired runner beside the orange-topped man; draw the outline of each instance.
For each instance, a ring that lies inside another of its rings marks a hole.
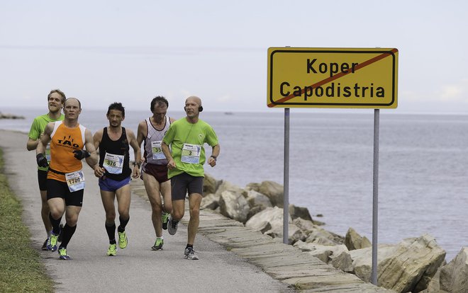
[[[130,146],[128,145],[127,140],[127,133],[125,131],[125,127],[122,127],[122,135],[116,141],[113,141],[107,134],[107,127],[104,127],[104,132],[102,134],[101,143],[99,144],[99,166],[103,166],[104,157],[106,156],[106,152],[108,154],[115,154],[115,155],[123,155],[123,168],[121,174],[111,174],[108,173],[106,170],[107,178],[112,180],[121,181],[128,176],[131,175],[132,170],[130,169],[129,162],[130,162],[130,155],[128,151],[130,150]]]

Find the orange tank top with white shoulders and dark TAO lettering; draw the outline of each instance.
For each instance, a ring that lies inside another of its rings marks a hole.
[[[82,125],[69,128],[62,121],[55,122],[54,130],[50,134],[48,179],[66,182],[65,173],[82,169],[82,161],[74,157],[73,151],[84,148],[84,130],[86,127]]]

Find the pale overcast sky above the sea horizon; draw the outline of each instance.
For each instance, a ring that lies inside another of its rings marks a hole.
[[[45,108],[60,88],[82,108],[267,108],[268,47],[399,50],[394,113],[468,114],[468,2],[1,1],[1,108]],[[299,109],[298,109],[299,110]],[[321,109],[305,109],[321,110]],[[350,109],[345,109],[350,110]],[[367,109],[369,110],[369,109]]]

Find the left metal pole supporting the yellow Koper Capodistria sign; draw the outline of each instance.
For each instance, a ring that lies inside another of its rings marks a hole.
[[[289,108],[284,108],[283,243],[289,244]]]

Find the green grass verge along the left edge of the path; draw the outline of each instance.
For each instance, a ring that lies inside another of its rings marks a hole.
[[[21,221],[21,202],[6,180],[1,149],[0,203],[0,292],[53,292],[54,282],[45,274],[40,254],[31,246],[29,230]]]

